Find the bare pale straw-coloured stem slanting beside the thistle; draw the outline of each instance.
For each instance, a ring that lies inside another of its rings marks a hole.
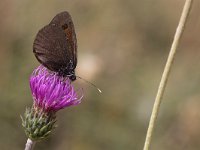
[[[150,144],[151,144],[151,139],[152,139],[152,134],[154,131],[154,127],[155,127],[155,122],[158,116],[158,112],[159,112],[159,108],[160,108],[160,104],[161,104],[161,100],[165,91],[165,87],[167,84],[167,80],[169,77],[169,73],[174,61],[174,57],[175,57],[175,53],[177,50],[177,47],[179,45],[179,41],[180,38],[182,36],[185,24],[186,24],[186,20],[188,18],[188,14],[189,11],[191,9],[192,6],[192,2],[193,0],[186,0],[185,1],[185,5],[181,14],[181,18],[178,24],[178,27],[176,29],[176,33],[174,35],[174,40],[170,49],[170,53],[162,74],[162,78],[158,87],[158,91],[157,91],[157,95],[155,98],[155,102],[154,102],[154,106],[153,106],[153,110],[152,110],[152,114],[151,114],[151,118],[150,118],[150,122],[149,122],[149,126],[148,126],[148,130],[147,130],[147,134],[146,134],[146,140],[144,143],[144,149],[143,150],[149,150],[150,148]]]

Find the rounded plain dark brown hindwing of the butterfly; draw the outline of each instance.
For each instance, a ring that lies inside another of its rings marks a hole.
[[[37,60],[49,70],[58,72],[67,68],[72,55],[71,45],[66,42],[66,35],[62,28],[47,25],[36,35],[33,43],[33,52]]]

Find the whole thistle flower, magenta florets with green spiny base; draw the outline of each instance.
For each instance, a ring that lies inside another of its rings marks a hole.
[[[50,135],[55,128],[56,112],[81,103],[71,81],[60,77],[43,66],[36,68],[30,77],[33,96],[32,108],[27,108],[22,125],[29,139],[37,141]]]

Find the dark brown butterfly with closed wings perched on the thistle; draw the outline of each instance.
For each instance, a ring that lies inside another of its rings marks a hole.
[[[33,53],[37,60],[58,75],[76,80],[77,40],[72,18],[67,11],[57,14],[36,35]]]

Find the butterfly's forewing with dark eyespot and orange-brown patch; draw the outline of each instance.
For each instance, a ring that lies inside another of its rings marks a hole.
[[[69,54],[72,58],[73,68],[77,65],[77,39],[74,24],[70,14],[67,11],[57,14],[50,24],[61,27],[66,35],[66,41],[70,45]]]

